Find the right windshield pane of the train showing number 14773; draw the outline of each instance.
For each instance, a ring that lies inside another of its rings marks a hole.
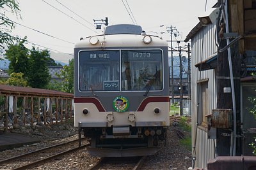
[[[161,50],[122,50],[122,90],[162,90]]]

